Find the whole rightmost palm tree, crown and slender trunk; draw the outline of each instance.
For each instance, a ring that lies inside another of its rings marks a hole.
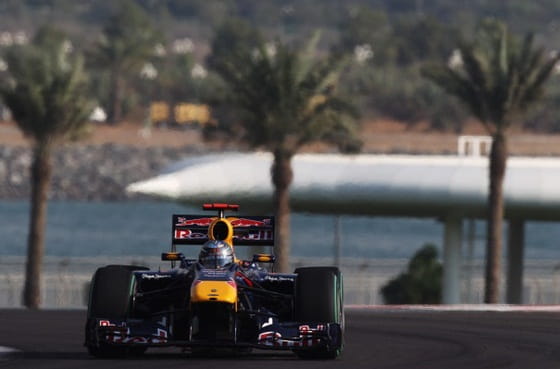
[[[426,68],[425,76],[456,96],[492,136],[487,213],[486,287],[484,301],[498,302],[502,254],[503,182],[508,157],[508,130],[543,95],[558,55],[550,57],[496,20],[483,23],[474,41],[459,46],[460,66]]]

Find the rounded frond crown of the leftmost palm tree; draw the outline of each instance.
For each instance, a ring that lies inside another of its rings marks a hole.
[[[5,56],[11,82],[2,85],[0,96],[22,132],[36,142],[73,135],[93,109],[83,59],[71,55],[55,35],[11,48]]]

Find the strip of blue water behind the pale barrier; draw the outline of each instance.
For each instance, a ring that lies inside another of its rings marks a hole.
[[[167,202],[50,202],[45,252],[55,257],[157,258],[169,249],[173,213],[203,214],[199,209]],[[0,256],[25,255],[28,219],[28,202],[0,202]],[[294,214],[292,255],[332,256],[334,224],[333,216]],[[408,259],[425,243],[441,248],[443,238],[443,226],[434,219],[343,216],[340,224],[345,258]],[[476,234],[475,257],[482,258],[482,221],[476,222]],[[560,262],[559,240],[560,223],[528,222],[526,258]]]

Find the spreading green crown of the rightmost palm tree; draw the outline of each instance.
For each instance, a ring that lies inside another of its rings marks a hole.
[[[507,129],[514,115],[533,105],[558,60],[547,60],[531,33],[519,40],[495,20],[484,22],[460,51],[462,67],[432,66],[424,75],[462,101],[491,134]]]

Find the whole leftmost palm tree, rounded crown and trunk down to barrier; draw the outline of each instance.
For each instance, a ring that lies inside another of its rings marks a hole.
[[[8,49],[7,77],[0,96],[22,132],[32,141],[31,213],[23,303],[38,308],[44,254],[51,153],[57,143],[83,132],[92,104],[84,95],[83,59],[73,55],[63,34],[40,29],[33,42]]]

